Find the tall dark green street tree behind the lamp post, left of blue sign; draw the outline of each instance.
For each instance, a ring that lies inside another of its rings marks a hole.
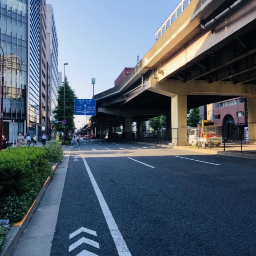
[[[67,121],[65,125],[65,136],[68,134],[69,130],[74,132],[74,100],[76,98],[76,94],[74,93],[74,90],[70,88],[67,76],[65,76],[65,120]],[[58,90],[57,102],[58,105],[52,113],[54,114],[55,119],[62,121],[64,120],[64,83]],[[56,131],[63,132],[64,130],[64,126],[60,122],[58,124],[54,124],[54,128]]]

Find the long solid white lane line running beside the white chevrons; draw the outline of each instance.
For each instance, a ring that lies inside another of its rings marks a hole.
[[[88,175],[90,177],[90,180],[92,182],[92,186],[95,190],[96,196],[98,198],[98,201],[100,203],[100,207],[102,209],[102,212],[103,212],[106,222],[108,224],[108,228],[110,230],[111,236],[116,245],[118,255],[119,256],[132,256],[126,243],[124,242],[124,238],[122,237],[122,234],[119,231],[116,221],[114,220],[112,213],[110,212],[110,210],[108,208],[108,205],[102,195],[102,192],[100,191],[100,188],[98,187],[98,184],[97,184],[96,180],[94,179],[94,176],[92,175],[92,172],[84,158],[83,158],[83,161],[84,161],[86,170],[88,172]]]

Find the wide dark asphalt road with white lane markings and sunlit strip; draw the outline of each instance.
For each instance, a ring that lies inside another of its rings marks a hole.
[[[50,256],[256,255],[255,160],[73,144]]]

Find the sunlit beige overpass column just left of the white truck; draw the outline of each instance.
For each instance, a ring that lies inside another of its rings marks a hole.
[[[187,142],[187,96],[172,97],[172,145],[186,146]]]

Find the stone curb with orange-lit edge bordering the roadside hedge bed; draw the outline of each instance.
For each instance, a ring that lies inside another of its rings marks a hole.
[[[56,168],[58,167],[58,163],[52,166],[52,171],[54,172]],[[48,188],[52,178],[49,176],[46,181],[44,182],[42,188],[40,189],[36,199],[34,200],[32,206],[28,209],[28,212],[25,214],[25,216],[20,220],[19,222],[13,224],[13,226],[10,228],[9,232],[6,235],[6,239],[4,241],[4,245],[2,247],[2,251],[0,253],[0,256],[11,256],[12,252],[14,251],[16,245],[18,244],[18,241],[20,240],[20,237],[22,236],[24,230],[26,230],[26,227],[28,226],[28,223],[30,222],[34,212],[36,211],[36,208],[38,204],[40,203],[45,190]]]

